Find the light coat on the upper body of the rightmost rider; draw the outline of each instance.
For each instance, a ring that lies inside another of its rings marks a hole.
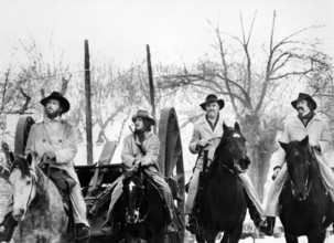
[[[280,141],[289,144],[293,140],[302,140],[306,135],[309,135],[309,142],[311,146],[320,146],[321,154],[327,152],[333,148],[328,124],[316,115],[314,115],[306,127],[298,117],[289,120]],[[284,161],[285,151],[280,148],[278,160],[274,167],[282,167]]]

